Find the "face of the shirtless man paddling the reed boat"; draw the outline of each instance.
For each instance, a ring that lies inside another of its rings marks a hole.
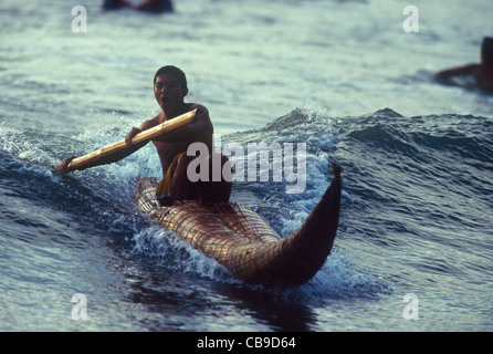
[[[187,90],[181,87],[181,83],[174,75],[161,74],[156,77],[154,96],[162,111],[171,113],[179,110],[187,93]]]

